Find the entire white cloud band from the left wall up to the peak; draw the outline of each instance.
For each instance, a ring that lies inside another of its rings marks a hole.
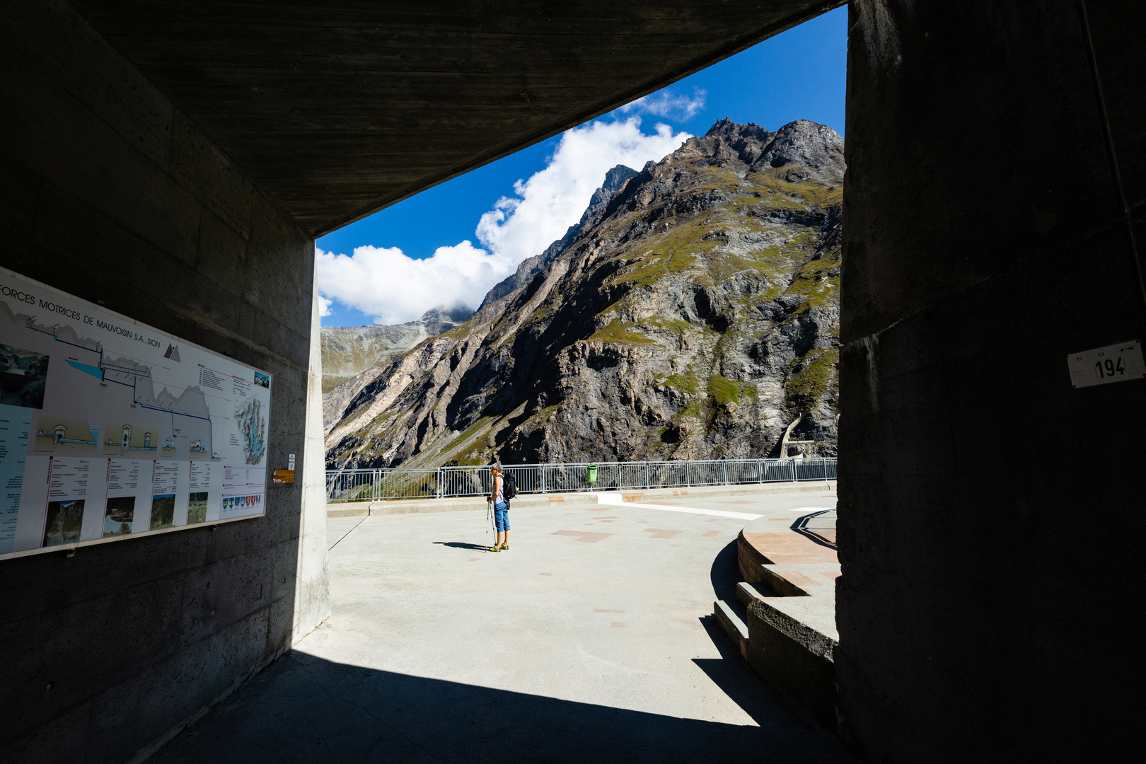
[[[330,301],[337,300],[391,324],[415,321],[438,305],[477,308],[519,262],[543,252],[580,220],[609,170],[619,164],[641,170],[689,137],[668,125],[645,134],[636,116],[567,131],[544,170],[518,180],[515,196],[502,197],[481,215],[477,235],[485,249],[465,241],[417,260],[398,247],[360,246],[352,255],[315,247],[320,312],[330,315]]]

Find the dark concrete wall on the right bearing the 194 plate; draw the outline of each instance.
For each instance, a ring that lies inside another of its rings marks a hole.
[[[1066,357],[1146,339],[1146,11],[850,13],[846,730],[880,762],[1113,761],[1143,712],[1146,381],[1073,389]]]

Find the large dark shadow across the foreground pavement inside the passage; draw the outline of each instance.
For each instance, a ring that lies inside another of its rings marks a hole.
[[[724,674],[709,663],[720,661],[698,661],[709,676]],[[738,726],[375,671],[292,651],[150,761],[851,761],[823,731],[767,706],[764,699],[752,715],[761,726]]]

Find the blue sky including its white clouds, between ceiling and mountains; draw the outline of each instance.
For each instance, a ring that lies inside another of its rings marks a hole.
[[[842,135],[846,62],[847,8],[838,8],[323,236],[322,325],[411,321],[455,300],[477,307],[517,262],[580,218],[604,170],[618,160],[639,170],[723,117],[768,129],[810,119]]]

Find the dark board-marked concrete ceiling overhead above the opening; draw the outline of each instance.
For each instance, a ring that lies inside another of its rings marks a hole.
[[[322,235],[842,0],[72,0]]]

